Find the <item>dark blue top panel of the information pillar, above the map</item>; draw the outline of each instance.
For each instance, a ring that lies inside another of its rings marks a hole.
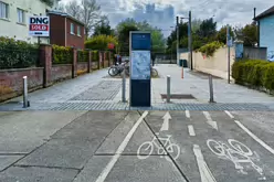
[[[150,50],[150,33],[133,33],[131,34],[133,50]]]

